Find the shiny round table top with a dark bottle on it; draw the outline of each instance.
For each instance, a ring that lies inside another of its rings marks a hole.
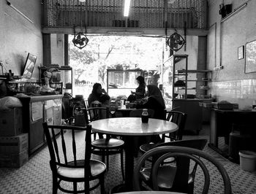
[[[172,133],[178,130],[178,125],[170,121],[149,118],[148,123],[142,123],[140,117],[95,120],[90,125],[96,132],[123,136],[148,136]]]

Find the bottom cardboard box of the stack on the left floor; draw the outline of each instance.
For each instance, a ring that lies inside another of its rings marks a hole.
[[[19,168],[29,160],[28,150],[18,154],[0,154],[0,167]]]

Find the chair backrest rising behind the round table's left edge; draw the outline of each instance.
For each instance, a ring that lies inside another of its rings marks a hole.
[[[91,107],[86,109],[89,115],[89,121],[109,118],[109,107]]]

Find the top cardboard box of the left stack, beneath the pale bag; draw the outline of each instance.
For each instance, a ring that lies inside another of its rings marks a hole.
[[[22,127],[21,108],[0,111],[0,136],[18,136]]]

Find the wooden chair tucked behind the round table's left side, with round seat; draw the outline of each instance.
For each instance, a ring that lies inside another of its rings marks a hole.
[[[109,117],[108,107],[92,107],[87,109],[87,112],[89,112],[90,122]],[[106,135],[104,138],[102,133],[98,133],[98,135],[99,139],[96,139],[94,136],[94,141],[91,141],[92,152],[97,155],[102,155],[102,162],[105,162],[105,158],[107,159],[107,169],[109,166],[109,155],[119,153],[121,158],[121,174],[124,179],[124,141],[113,138],[113,136],[110,135]]]

